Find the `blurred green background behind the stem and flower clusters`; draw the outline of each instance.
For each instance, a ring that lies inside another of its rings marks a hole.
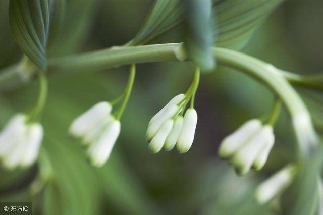
[[[69,27],[50,47],[48,56],[123,45],[136,35],[152,4],[150,0],[91,0],[76,8],[67,1]],[[6,17],[3,9],[1,16]],[[286,1],[255,31],[242,51],[291,72],[318,72],[323,68],[322,11],[319,0]],[[0,34],[10,32],[7,27]],[[3,47],[6,51],[1,51],[0,69],[21,57],[13,41]],[[68,137],[68,127],[96,102],[118,97],[127,76],[126,66],[49,76],[43,147],[55,178],[31,195],[28,188],[37,175],[37,166],[16,172],[1,169],[0,201],[32,201],[35,214],[275,213],[270,205],[257,205],[253,192],[257,184],[294,159],[295,138],[288,115],[283,110],[279,117],[275,146],[263,170],[236,176],[233,168],[219,159],[218,145],[246,120],[270,111],[273,95],[254,79],[224,67],[201,77],[192,148],[185,154],[176,150],[151,154],[145,141],[146,126],[173,96],[186,91],[193,66],[175,62],[137,65],[134,89],[111,158],[104,167],[92,168],[84,149]],[[323,103],[322,96],[298,90],[319,119],[322,109],[317,104]],[[36,96],[37,81],[1,92],[0,128],[14,113],[31,108]]]

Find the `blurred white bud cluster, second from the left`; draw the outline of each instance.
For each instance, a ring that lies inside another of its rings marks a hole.
[[[111,115],[112,106],[102,101],[76,118],[69,133],[87,147],[93,166],[105,164],[120,134],[120,121]]]

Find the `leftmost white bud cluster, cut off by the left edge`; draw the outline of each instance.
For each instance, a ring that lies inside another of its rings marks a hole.
[[[28,122],[28,116],[15,115],[0,133],[0,159],[5,168],[31,166],[38,156],[43,138],[40,123]]]

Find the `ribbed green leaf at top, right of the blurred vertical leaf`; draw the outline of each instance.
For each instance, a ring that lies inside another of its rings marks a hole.
[[[219,47],[240,49],[245,46],[254,30],[283,0],[216,0],[213,9],[217,25]]]

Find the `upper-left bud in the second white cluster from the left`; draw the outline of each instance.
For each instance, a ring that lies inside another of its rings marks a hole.
[[[70,126],[69,133],[76,138],[83,137],[85,133],[97,126],[102,119],[109,116],[111,110],[112,106],[109,102],[101,101],[95,104],[92,108],[73,121]]]

